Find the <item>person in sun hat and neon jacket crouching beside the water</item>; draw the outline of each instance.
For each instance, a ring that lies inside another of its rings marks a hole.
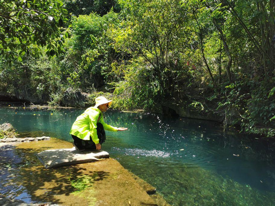
[[[124,131],[128,128],[113,127],[103,121],[102,112],[107,111],[112,100],[100,96],[96,98],[96,105],[84,111],[77,117],[71,128],[70,134],[74,139],[73,145],[79,151],[85,149],[101,149],[106,140],[105,130]]]

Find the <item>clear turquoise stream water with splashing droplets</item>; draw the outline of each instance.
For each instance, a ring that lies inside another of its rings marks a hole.
[[[83,111],[1,107],[0,124],[72,142],[68,133]],[[116,111],[104,116],[106,123],[128,130],[106,131],[103,149],[170,204],[275,204],[273,139],[224,133],[211,121]]]

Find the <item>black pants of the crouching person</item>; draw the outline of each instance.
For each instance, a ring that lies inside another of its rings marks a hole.
[[[102,145],[103,142],[106,140],[106,135],[105,135],[105,130],[103,128],[103,125],[101,123],[96,124],[96,133],[97,137],[99,139],[100,145]],[[92,140],[92,137],[90,137],[90,140],[83,140],[78,138],[75,135],[71,135],[72,138],[74,139],[74,144],[79,148],[79,149],[96,149],[96,145]]]

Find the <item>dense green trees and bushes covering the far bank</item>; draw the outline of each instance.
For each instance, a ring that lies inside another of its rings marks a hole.
[[[181,107],[274,136],[273,1],[53,2],[70,13],[64,52],[48,60],[36,43],[42,57],[2,60],[2,92],[31,90],[51,104],[68,87],[90,98],[104,92],[114,108]]]

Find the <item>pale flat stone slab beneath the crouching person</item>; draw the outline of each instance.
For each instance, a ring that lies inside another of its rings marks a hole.
[[[46,168],[95,162],[101,158],[109,158],[109,153],[103,150],[78,151],[75,147],[45,150],[37,155]]]

